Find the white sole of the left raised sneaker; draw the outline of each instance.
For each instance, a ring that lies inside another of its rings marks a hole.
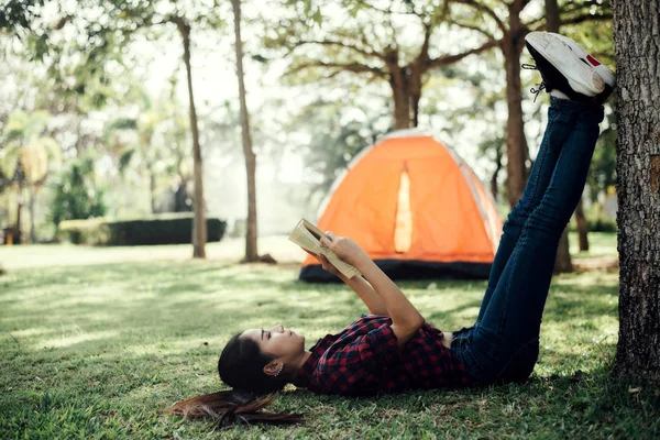
[[[566,78],[575,92],[594,97],[605,89],[603,78],[563,41],[542,32],[532,32],[525,41]]]

